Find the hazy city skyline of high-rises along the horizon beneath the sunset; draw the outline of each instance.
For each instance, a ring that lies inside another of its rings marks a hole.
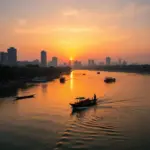
[[[58,66],[72,66],[75,68],[80,68],[83,66],[95,66],[95,65],[127,65],[127,61],[123,59],[118,59],[117,61],[112,61],[111,57],[106,57],[105,61],[95,60],[95,59],[88,59],[86,62],[83,60],[72,58],[69,60],[69,63],[63,62],[62,60],[58,59],[56,56],[52,56],[51,60],[47,59],[47,51],[41,50],[40,52],[40,60],[36,58],[35,60],[23,60],[19,61],[17,59],[17,49],[15,47],[10,47],[7,49],[7,52],[0,51],[0,65],[8,65],[8,66],[26,66],[26,65],[39,65],[41,67],[58,67]],[[136,63],[135,63],[136,64]]]

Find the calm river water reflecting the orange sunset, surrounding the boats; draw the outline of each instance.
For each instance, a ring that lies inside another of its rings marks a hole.
[[[150,149],[150,76],[73,71],[67,79],[18,91],[34,99],[0,99],[0,150]],[[74,97],[94,93],[97,106],[72,113]]]

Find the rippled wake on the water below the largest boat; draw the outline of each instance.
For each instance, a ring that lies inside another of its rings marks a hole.
[[[113,126],[104,122],[104,117],[98,113],[99,110],[111,109],[109,106],[89,107],[82,111],[72,112],[65,131],[57,142],[55,150],[66,149],[88,149],[96,146],[101,137],[121,137],[121,133]]]

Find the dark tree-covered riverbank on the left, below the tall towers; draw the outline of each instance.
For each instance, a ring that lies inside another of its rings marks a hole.
[[[0,66],[0,93],[6,89],[18,89],[28,87],[28,83],[34,85],[33,79],[42,79],[45,82],[59,78],[63,74],[69,74],[69,67],[39,67],[28,65],[26,67]],[[41,81],[42,81],[41,80]]]

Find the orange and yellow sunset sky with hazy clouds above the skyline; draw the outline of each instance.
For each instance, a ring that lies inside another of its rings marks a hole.
[[[0,51],[150,63],[150,0],[0,0]]]

